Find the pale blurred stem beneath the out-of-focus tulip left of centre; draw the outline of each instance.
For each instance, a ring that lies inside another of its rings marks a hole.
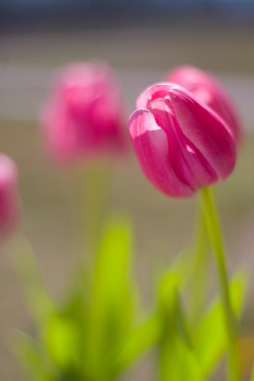
[[[89,288],[97,254],[97,244],[102,233],[104,216],[110,196],[110,171],[108,163],[88,162],[77,168],[73,183],[76,186],[77,231],[79,233],[79,260],[74,277],[73,293],[82,294]]]

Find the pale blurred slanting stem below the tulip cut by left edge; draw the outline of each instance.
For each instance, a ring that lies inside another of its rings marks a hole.
[[[33,249],[25,239],[16,242],[13,248],[13,264],[24,285],[25,295],[31,314],[35,321],[42,327],[54,311],[54,302],[46,290],[44,281]]]

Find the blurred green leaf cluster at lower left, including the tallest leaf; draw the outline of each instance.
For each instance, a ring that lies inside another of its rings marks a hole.
[[[111,380],[154,343],[146,336],[149,319],[136,322],[132,230],[127,221],[108,221],[93,272],[79,269],[75,286],[63,302],[49,296],[31,248],[22,246],[15,264],[37,337],[19,335],[15,353],[31,379]]]

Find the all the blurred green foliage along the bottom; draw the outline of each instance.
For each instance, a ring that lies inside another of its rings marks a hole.
[[[204,242],[204,231],[202,234]],[[109,220],[90,263],[91,271],[80,266],[72,289],[57,302],[45,287],[33,251],[22,243],[14,263],[34,316],[36,335],[19,333],[14,352],[27,379],[113,381],[151,348],[156,350],[161,381],[202,381],[211,375],[225,353],[227,340],[218,297],[204,308],[205,295],[197,294],[202,299],[199,308],[192,305],[192,293],[204,278],[207,246],[197,243],[178,256],[158,281],[149,313],[141,314],[131,271],[132,240],[128,221]],[[246,274],[238,272],[230,283],[237,317],[245,288]],[[195,309],[193,319],[189,311]]]

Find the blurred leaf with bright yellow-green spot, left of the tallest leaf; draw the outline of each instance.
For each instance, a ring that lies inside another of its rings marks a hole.
[[[89,351],[86,341],[89,331],[91,274],[83,263],[79,265],[67,293],[58,303],[57,311],[48,319],[43,338],[51,359],[61,369],[70,368],[79,372],[82,378],[85,351]]]

